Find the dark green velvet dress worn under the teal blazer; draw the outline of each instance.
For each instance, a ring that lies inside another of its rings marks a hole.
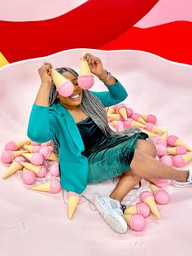
[[[107,137],[91,117],[76,123],[85,145],[82,155],[88,157],[88,183],[112,179],[130,170],[137,139],[147,139],[144,132],[132,137]]]

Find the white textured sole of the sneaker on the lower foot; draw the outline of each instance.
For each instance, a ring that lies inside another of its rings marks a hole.
[[[99,199],[99,197],[96,197],[95,199],[95,207],[97,208],[99,214],[104,218],[105,222],[108,224],[111,229],[117,233],[124,234],[127,231],[127,223],[124,220],[124,223],[117,218],[114,217],[114,215],[111,213],[110,210],[103,209],[103,202]],[[123,218],[123,217],[122,217]]]

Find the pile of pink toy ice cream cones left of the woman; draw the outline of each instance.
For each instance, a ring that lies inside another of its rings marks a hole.
[[[61,190],[58,156],[50,141],[35,143],[25,139],[8,142],[1,158],[4,164],[10,164],[2,179],[20,172],[23,183],[30,189],[50,193]]]

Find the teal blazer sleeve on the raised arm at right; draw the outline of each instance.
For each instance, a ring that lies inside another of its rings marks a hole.
[[[93,91],[89,90],[93,95],[98,97],[105,107],[111,105],[116,105],[122,102],[128,97],[127,91],[124,89],[124,86],[121,85],[119,81],[111,86],[107,86],[109,91]]]

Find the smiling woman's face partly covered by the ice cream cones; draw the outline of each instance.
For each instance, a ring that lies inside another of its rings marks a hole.
[[[65,77],[66,79],[69,79],[72,82],[74,86],[74,91],[70,97],[63,97],[58,94],[57,98],[59,98],[60,102],[63,104],[64,107],[68,109],[76,109],[76,106],[81,104],[81,99],[82,99],[82,89],[78,85],[77,77],[68,71],[63,72],[62,76]],[[79,96],[77,98],[72,99],[72,96],[74,95],[79,95]]]

